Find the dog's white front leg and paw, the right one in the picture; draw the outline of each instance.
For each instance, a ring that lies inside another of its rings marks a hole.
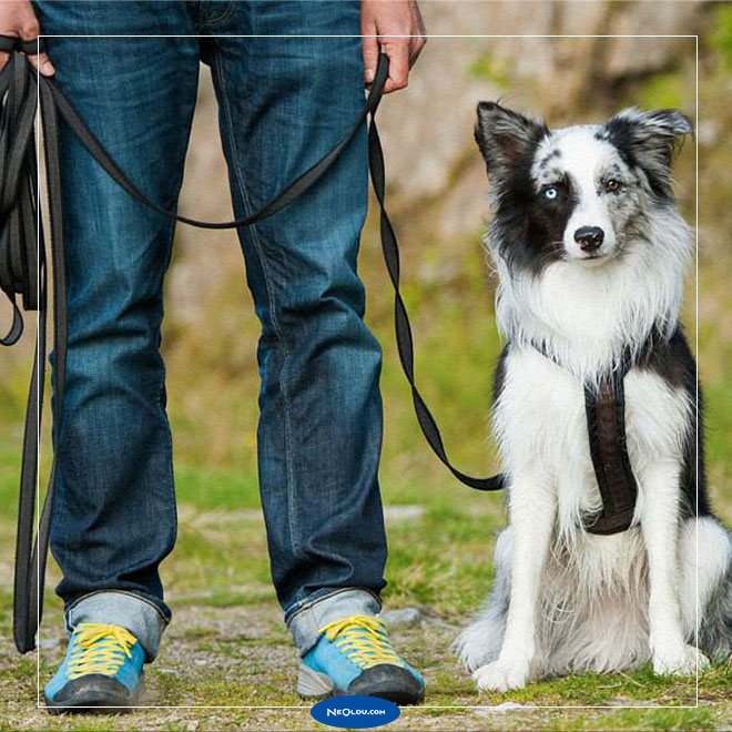
[[[684,639],[679,598],[680,468],[659,461],[642,475],[641,530],[648,555],[649,643],[655,673],[693,674],[706,658]]]

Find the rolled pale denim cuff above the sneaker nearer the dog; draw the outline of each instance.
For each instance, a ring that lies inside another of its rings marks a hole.
[[[382,601],[369,590],[345,587],[306,599],[292,614],[285,614],[285,622],[302,657],[317,643],[323,626],[348,616],[375,616],[380,610]]]

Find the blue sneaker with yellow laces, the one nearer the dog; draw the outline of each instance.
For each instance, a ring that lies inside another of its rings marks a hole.
[[[394,650],[378,618],[349,616],[319,632],[299,667],[302,699],[360,694],[407,705],[425,698],[423,678]]]

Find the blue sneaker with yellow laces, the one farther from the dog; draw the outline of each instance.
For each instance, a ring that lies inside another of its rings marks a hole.
[[[67,658],[45,685],[49,712],[129,711],[142,694],[144,662],[138,639],[121,626],[79,624]]]

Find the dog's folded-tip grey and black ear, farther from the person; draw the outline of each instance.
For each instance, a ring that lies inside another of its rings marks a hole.
[[[671,195],[671,163],[684,135],[694,131],[683,112],[630,108],[613,116],[606,131],[630,162],[645,171],[655,193]]]

